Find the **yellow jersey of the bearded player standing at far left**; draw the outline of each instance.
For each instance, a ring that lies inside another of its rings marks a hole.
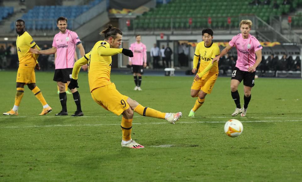
[[[19,57],[19,67],[35,67],[36,58],[29,49],[34,48],[36,42],[32,39],[31,35],[26,31],[22,35],[18,35],[16,45]]]

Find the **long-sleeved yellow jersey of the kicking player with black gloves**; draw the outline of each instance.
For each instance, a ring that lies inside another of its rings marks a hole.
[[[77,79],[81,65],[88,63],[88,81],[90,91],[108,85],[110,82],[111,56],[122,52],[122,49],[110,48],[106,41],[98,41],[84,57],[76,61],[72,78]]]

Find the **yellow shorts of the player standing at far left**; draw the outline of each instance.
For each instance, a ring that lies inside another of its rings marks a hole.
[[[36,83],[35,67],[19,67],[16,82]]]

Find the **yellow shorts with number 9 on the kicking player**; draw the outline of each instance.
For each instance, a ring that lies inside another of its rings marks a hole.
[[[100,106],[118,116],[130,107],[127,103],[128,97],[117,91],[114,83],[92,90],[91,96]]]

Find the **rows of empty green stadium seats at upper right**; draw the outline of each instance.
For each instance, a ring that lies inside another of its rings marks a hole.
[[[188,21],[192,18],[192,28],[201,29],[209,27],[208,17],[212,18],[212,28],[238,27],[240,14],[255,14],[269,23],[270,16],[288,14],[302,0],[292,0],[290,5],[282,5],[283,0],[277,0],[278,9],[273,8],[274,1],[270,5],[251,5],[253,0],[173,0],[168,4],[151,8],[149,12],[137,17],[133,21],[136,29],[189,29]],[[231,18],[231,25],[227,23],[227,17]],[[172,24],[171,24],[172,19]],[[301,18],[293,18],[293,25],[299,26]]]

